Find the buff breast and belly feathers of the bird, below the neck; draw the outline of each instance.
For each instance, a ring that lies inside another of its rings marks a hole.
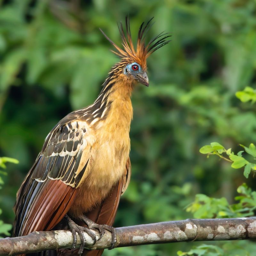
[[[130,151],[129,131],[119,137],[115,132],[109,133],[104,139],[100,140],[103,143],[97,143],[92,169],[81,187],[77,188],[77,197],[69,212],[74,217],[100,204],[124,174]]]

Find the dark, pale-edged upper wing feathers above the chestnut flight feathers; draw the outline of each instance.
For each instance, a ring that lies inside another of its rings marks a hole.
[[[86,163],[89,163],[94,143],[93,138],[85,136],[86,133],[85,122],[73,121],[55,126],[46,138],[46,145],[38,156],[39,164],[31,178],[40,182],[47,178],[61,180],[77,188],[88,171]]]

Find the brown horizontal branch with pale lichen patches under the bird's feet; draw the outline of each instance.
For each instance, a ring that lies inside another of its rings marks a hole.
[[[92,230],[97,239],[99,232]],[[106,231],[101,240],[92,245],[86,233],[86,247],[91,250],[111,246],[111,233]],[[256,217],[236,219],[202,219],[159,222],[154,224],[116,228],[116,247],[140,244],[158,244],[183,241],[210,241],[256,239]],[[80,239],[77,236],[77,247]],[[70,231],[34,231],[28,236],[0,239],[0,255],[16,255],[58,248],[71,248],[73,237]]]

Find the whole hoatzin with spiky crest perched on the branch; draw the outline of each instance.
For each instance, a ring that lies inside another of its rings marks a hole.
[[[116,232],[111,225],[131,175],[131,93],[136,82],[148,86],[146,59],[169,42],[169,36],[161,33],[145,44],[151,20],[139,28],[136,50],[128,18],[126,35],[122,23],[118,26],[123,49],[102,32],[121,60],[111,68],[92,105],[68,114],[53,127],[17,193],[13,236],[35,230],[70,229],[73,250],[76,232],[82,241],[80,249],[74,254],[62,249],[30,255],[100,256],[103,250],[84,250],[83,231],[96,242],[89,228],[99,229],[100,238],[105,229],[111,231],[115,246]]]

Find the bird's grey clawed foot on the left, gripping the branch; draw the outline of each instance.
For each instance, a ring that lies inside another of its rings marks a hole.
[[[76,248],[76,242],[77,242],[76,232],[77,232],[81,239],[81,245],[78,251],[78,255],[82,255],[84,252],[84,246],[86,243],[86,239],[84,237],[83,232],[85,231],[89,236],[92,237],[93,244],[97,242],[96,235],[89,228],[77,225],[70,217],[68,217],[68,215],[66,215],[66,218],[68,220],[68,227],[70,228],[73,235],[73,246],[72,246],[73,252],[74,252],[74,249]]]

